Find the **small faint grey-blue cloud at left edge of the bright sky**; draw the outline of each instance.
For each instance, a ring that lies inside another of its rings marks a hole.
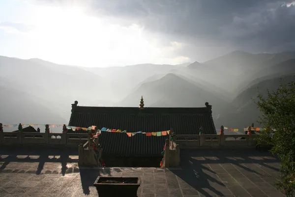
[[[0,22],[0,29],[8,33],[26,33],[34,29],[34,26],[24,23]]]

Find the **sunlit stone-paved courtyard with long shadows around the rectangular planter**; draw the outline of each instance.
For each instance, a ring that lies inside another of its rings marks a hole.
[[[140,176],[138,197],[282,197],[279,161],[254,150],[181,151],[180,168],[79,168],[77,150],[0,147],[0,197],[94,197],[97,176]]]

